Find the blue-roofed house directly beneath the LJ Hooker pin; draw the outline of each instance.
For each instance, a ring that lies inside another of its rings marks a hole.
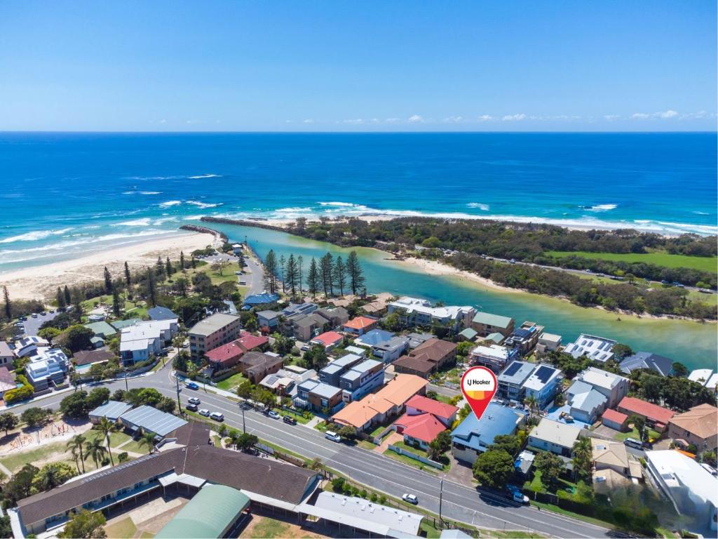
[[[470,413],[452,430],[452,455],[464,464],[474,464],[496,436],[516,433],[525,418],[526,413],[522,410],[489,402],[481,419]]]

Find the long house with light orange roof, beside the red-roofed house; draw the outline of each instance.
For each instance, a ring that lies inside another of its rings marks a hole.
[[[337,425],[366,430],[371,425],[401,413],[411,397],[424,395],[427,383],[425,379],[413,374],[397,374],[378,392],[350,402],[332,415],[332,421]]]

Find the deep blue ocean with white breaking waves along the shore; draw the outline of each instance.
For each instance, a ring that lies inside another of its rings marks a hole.
[[[203,215],[376,213],[717,234],[717,137],[0,133],[0,272]]]

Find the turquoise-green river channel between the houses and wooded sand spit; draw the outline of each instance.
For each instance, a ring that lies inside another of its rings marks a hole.
[[[269,249],[277,256],[290,253],[304,257],[307,267],[312,257],[319,258],[327,251],[342,257],[351,249],[342,249],[323,241],[313,241],[291,234],[245,226],[211,224],[223,231],[230,240],[248,240],[255,251],[264,257]],[[614,338],[630,345],[635,351],[655,354],[681,361],[689,369],[716,368],[718,355],[717,326],[678,320],[655,320],[622,316],[595,308],[581,308],[566,301],[525,292],[501,292],[480,284],[452,276],[427,275],[420,268],[397,264],[390,256],[376,249],[355,249],[362,261],[370,292],[391,292],[412,295],[447,305],[473,305],[489,313],[510,316],[517,323],[535,321],[549,333],[561,335],[567,344],[579,333]],[[305,272],[306,275],[306,272]]]

